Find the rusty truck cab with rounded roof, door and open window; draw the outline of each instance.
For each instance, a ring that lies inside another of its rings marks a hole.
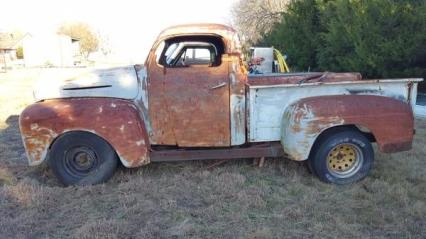
[[[236,33],[213,25],[185,34],[188,28],[160,34],[146,62],[152,144],[244,144],[246,77]]]

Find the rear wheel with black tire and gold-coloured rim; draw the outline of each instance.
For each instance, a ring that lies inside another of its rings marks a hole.
[[[343,185],[365,178],[373,162],[373,147],[362,133],[337,128],[318,139],[308,166],[322,181]]]

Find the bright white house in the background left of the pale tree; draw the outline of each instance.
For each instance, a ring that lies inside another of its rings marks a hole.
[[[26,67],[72,67],[81,59],[79,40],[56,33],[26,37],[23,50]]]

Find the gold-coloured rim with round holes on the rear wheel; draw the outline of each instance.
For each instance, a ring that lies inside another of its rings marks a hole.
[[[363,161],[361,149],[355,144],[345,143],[330,150],[327,168],[332,175],[347,178],[358,172]]]

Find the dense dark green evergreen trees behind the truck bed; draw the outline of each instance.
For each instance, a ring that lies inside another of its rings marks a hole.
[[[426,77],[426,1],[292,0],[260,42],[293,69]]]

